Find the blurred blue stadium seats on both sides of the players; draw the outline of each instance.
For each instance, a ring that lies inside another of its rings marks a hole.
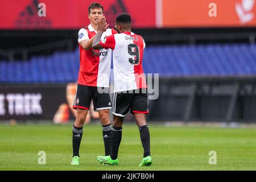
[[[256,75],[256,44],[196,44],[147,46],[145,73],[164,77]],[[51,84],[77,80],[79,49],[34,56],[30,60],[0,61],[0,82]]]

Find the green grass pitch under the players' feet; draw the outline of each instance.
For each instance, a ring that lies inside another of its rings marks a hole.
[[[119,166],[102,166],[102,127],[84,126],[80,166],[71,166],[72,124],[0,125],[0,170],[256,170],[256,129],[164,127],[149,123],[150,167],[139,167],[143,149],[138,127],[123,125]],[[38,152],[46,152],[46,165],[38,164]],[[209,164],[216,151],[217,164]]]

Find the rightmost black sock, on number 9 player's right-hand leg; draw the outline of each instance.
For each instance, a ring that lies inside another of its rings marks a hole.
[[[147,125],[139,127],[139,133],[141,134],[141,143],[144,148],[143,158],[150,155],[150,133]]]

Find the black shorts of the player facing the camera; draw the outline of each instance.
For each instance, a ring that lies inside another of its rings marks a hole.
[[[94,111],[102,109],[111,109],[109,88],[104,89],[104,93],[98,92],[97,86],[86,86],[77,84],[76,98],[73,103],[73,109],[89,110],[90,101],[93,100]]]

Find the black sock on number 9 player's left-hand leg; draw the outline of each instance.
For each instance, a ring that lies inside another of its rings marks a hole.
[[[117,159],[119,145],[122,139],[122,127],[114,127],[111,134],[111,159]]]

